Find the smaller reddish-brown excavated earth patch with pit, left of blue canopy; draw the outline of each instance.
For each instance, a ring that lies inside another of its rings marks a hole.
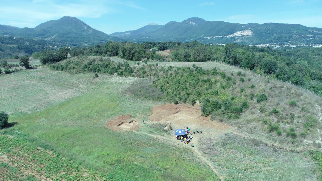
[[[131,117],[131,115],[119,115],[115,119],[107,121],[106,127],[113,131],[139,129],[140,126],[136,124],[137,120],[131,119]]]

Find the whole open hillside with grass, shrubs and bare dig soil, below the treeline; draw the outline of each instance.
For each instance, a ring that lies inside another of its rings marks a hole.
[[[321,176],[317,96],[218,62],[113,60],[73,57],[49,66],[69,73],[42,67],[0,76],[1,83],[15,82],[0,95],[14,125],[0,130],[5,144],[0,161],[6,163],[0,176],[313,181]],[[258,102],[256,94],[267,100]],[[202,113],[205,97],[211,105],[223,101],[211,117]],[[173,98],[179,104],[168,104]],[[194,148],[173,138],[174,129],[186,126],[203,131],[192,135]]]

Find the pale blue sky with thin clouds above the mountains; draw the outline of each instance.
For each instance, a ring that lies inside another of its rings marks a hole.
[[[230,23],[290,23],[322,28],[322,0],[1,0],[0,24],[33,28],[75,16],[104,33],[199,17]]]

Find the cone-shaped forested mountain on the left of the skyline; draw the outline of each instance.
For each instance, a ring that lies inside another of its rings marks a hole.
[[[75,17],[64,16],[59,20],[47,21],[35,28],[17,28],[0,25],[0,34],[15,37],[43,39],[51,43],[68,46],[94,45],[119,40],[91,28]]]

